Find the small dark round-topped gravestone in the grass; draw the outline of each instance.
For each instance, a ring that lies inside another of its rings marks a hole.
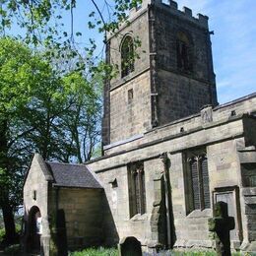
[[[118,246],[120,256],[142,256],[141,242],[134,236],[124,237]]]

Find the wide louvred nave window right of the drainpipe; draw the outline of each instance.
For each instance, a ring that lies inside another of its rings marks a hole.
[[[205,153],[186,154],[185,194],[186,209],[189,214],[193,210],[211,208],[208,160]]]

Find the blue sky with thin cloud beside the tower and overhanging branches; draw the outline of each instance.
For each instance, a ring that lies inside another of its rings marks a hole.
[[[103,8],[101,0],[96,1]],[[91,1],[78,0],[75,28],[86,30],[87,14],[94,10]],[[179,9],[187,6],[209,16],[214,67],[220,103],[256,92],[256,0],[178,0]],[[105,9],[104,9],[105,10]],[[95,33],[96,35],[96,33]],[[96,35],[100,44],[101,35]]]

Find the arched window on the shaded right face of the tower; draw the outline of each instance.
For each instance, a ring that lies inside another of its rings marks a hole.
[[[192,43],[184,32],[177,33],[177,67],[181,71],[192,71]]]

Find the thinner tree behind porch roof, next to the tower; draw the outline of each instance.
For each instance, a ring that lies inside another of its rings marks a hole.
[[[75,159],[85,162],[94,157],[100,140],[102,75],[97,73],[86,80],[81,73],[74,72],[63,80],[72,87],[69,96],[73,103],[65,112],[62,125],[70,133]]]

